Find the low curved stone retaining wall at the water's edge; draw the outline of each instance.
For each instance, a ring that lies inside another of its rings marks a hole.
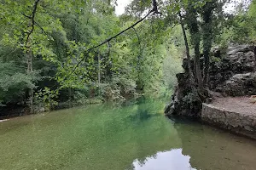
[[[201,120],[233,133],[256,139],[256,116],[226,111],[214,105],[203,104]]]

